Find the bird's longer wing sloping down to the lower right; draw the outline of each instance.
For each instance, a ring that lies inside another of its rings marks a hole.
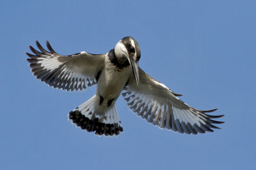
[[[181,95],[175,94],[142,69],[139,71],[139,86],[136,85],[134,78],[131,76],[122,92],[122,96],[127,101],[129,108],[147,122],[157,125],[161,129],[166,128],[175,132],[185,132],[186,134],[213,132],[211,128],[220,128],[212,124],[224,123],[212,120],[212,118],[220,118],[224,115],[212,116],[206,114],[217,109],[196,110],[176,97]]]

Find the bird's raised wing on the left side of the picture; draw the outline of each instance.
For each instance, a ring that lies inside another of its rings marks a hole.
[[[31,59],[32,72],[36,78],[54,88],[74,91],[84,90],[97,83],[100,71],[104,67],[105,54],[80,52],[73,55],[60,55],[46,42],[49,52],[36,41],[40,52],[29,46],[35,53],[26,53]]]

